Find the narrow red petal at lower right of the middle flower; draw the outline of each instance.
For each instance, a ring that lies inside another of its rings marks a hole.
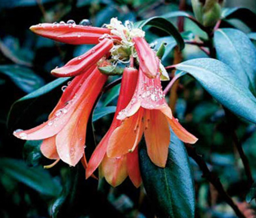
[[[140,187],[142,178],[140,175],[138,146],[131,153],[127,154],[127,170],[132,183],[136,188]]]

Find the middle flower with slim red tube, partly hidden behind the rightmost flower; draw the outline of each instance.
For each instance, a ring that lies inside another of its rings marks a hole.
[[[101,174],[112,186],[118,186],[127,177],[130,177],[131,181],[136,187],[141,184],[140,169],[138,162],[138,151],[123,155],[120,157],[109,158],[106,155],[108,140],[112,132],[121,125],[122,121],[116,119],[119,111],[124,109],[134,93],[137,83],[138,71],[134,68],[125,68],[122,76],[121,89],[116,107],[116,113],[114,115],[113,122],[108,132],[105,134],[99,145],[96,147],[88,167],[86,169],[86,178],[90,177],[93,172],[101,165]],[[122,137],[119,139],[122,141]]]

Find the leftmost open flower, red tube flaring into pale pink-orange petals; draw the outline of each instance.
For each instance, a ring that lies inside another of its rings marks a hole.
[[[44,140],[44,156],[75,166],[84,154],[88,117],[107,78],[96,66],[91,67],[67,86],[47,122],[26,131],[17,130],[14,135],[23,140]]]

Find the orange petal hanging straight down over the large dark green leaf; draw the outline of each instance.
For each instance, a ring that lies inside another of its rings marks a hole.
[[[165,167],[170,142],[166,116],[160,110],[149,110],[149,120],[144,120],[144,125],[147,126],[144,135],[148,156],[155,165]]]

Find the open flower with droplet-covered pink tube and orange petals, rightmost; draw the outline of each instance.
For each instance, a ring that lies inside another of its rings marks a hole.
[[[107,155],[110,158],[133,152],[144,132],[148,156],[154,164],[164,167],[170,140],[169,125],[183,142],[195,143],[198,140],[172,116],[163,95],[160,75],[151,79],[141,69],[134,96],[117,119],[123,122],[109,138]]]

